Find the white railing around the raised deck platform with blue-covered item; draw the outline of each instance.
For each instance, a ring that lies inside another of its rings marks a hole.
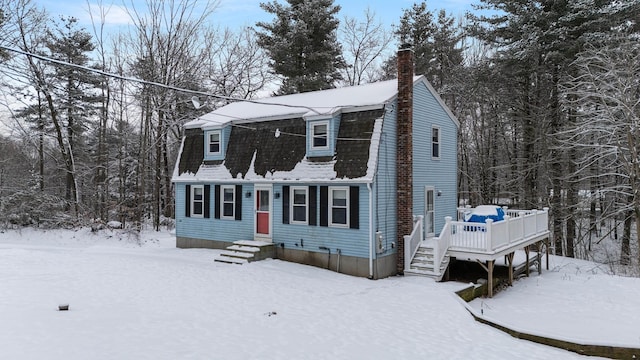
[[[470,209],[458,209],[458,218]],[[451,238],[451,248],[470,251],[493,252],[549,231],[549,209],[507,210],[504,220],[486,223],[452,221],[449,229],[440,235]],[[446,232],[446,234],[444,234]]]

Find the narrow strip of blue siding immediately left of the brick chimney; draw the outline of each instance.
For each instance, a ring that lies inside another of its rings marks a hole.
[[[391,244],[397,239],[396,211],[396,114],[397,102],[386,107],[382,124],[378,168],[373,184],[375,199],[373,203],[373,232],[382,232],[385,252],[375,256],[385,256],[395,252],[397,247]],[[375,235],[375,234],[374,234]]]

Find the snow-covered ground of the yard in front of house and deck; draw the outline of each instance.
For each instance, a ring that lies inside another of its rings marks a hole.
[[[475,322],[453,294],[461,284],[216,253],[176,249],[166,232],[0,233],[0,358],[582,358]],[[471,306],[531,332],[640,346],[640,280],[552,260]]]

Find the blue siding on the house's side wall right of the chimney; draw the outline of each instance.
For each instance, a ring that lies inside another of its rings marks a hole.
[[[456,216],[458,129],[427,86],[418,82],[413,94],[413,213],[424,215],[424,187],[435,187],[436,236],[444,217]],[[431,129],[440,128],[440,158],[432,158]],[[441,192],[441,196],[437,196]]]

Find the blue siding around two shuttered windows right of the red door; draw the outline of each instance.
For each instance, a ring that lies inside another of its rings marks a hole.
[[[317,186],[318,195],[320,186],[338,186],[337,184],[295,184],[295,186]],[[340,186],[356,186],[357,184],[344,184]],[[293,184],[291,184],[293,186]],[[331,249],[335,254],[340,249],[345,256],[369,257],[369,191],[366,185],[359,187],[359,228],[346,229],[331,226],[283,224],[282,222],[282,185],[274,184],[273,192],[280,193],[279,199],[273,202],[273,242],[284,244],[287,249],[296,249],[311,252],[326,253],[320,247]],[[318,217],[320,216],[320,197],[317,204]]]

